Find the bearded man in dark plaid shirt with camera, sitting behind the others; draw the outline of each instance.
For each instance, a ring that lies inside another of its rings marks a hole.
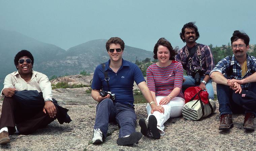
[[[195,22],[184,24],[180,37],[186,46],[181,48],[176,56],[176,61],[182,63],[187,75],[184,75],[182,91],[189,87],[199,86],[209,93],[209,98],[214,98],[214,91],[210,72],[214,68],[213,55],[207,45],[198,44],[196,40],[200,37]]]

